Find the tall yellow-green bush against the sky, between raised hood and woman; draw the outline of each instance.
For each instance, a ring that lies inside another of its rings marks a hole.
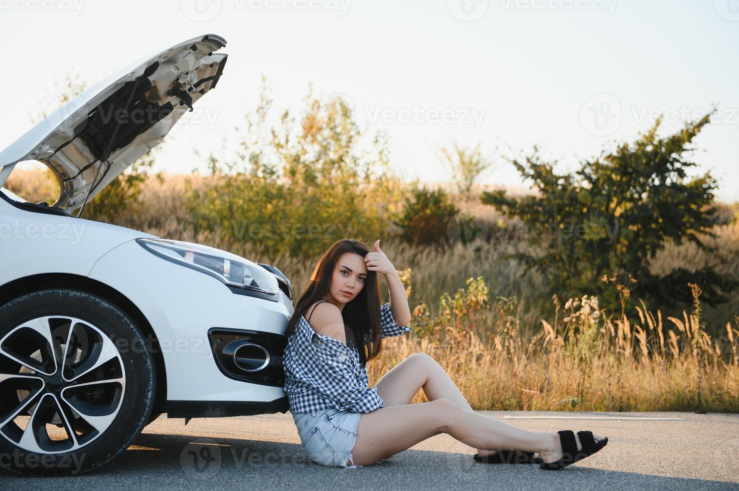
[[[317,255],[339,238],[379,238],[399,209],[401,181],[390,171],[382,134],[362,133],[351,104],[309,89],[298,117],[271,118],[262,83],[256,111],[236,128],[236,154],[209,157],[208,185],[193,190],[193,222],[217,223],[204,241],[251,243],[270,255]],[[217,220],[211,220],[217,217]]]

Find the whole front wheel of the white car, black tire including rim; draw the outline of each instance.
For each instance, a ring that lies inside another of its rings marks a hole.
[[[0,468],[106,464],[149,422],[154,370],[136,323],[97,295],[46,289],[0,306]]]

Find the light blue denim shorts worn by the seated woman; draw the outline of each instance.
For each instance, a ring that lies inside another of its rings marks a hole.
[[[361,413],[324,409],[316,413],[293,413],[300,442],[310,460],[331,467],[356,468],[352,449]]]

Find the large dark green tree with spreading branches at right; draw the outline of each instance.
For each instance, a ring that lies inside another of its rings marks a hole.
[[[552,292],[596,293],[611,306],[617,303],[610,298],[613,290],[599,279],[613,274],[626,284],[626,276],[633,275],[633,294],[663,306],[692,301],[689,281],[701,286],[705,303],[726,301],[725,293],[737,282],[712,267],[679,267],[664,275],[650,271],[666,241],[689,241],[711,250],[701,238],[714,236],[717,184],[709,172],[688,176],[696,165],[688,158],[694,150],[689,145],[710,116],[664,138],[657,135],[660,119],[633,144],[603,151],[573,174],[557,174],[552,163],[542,162],[537,148],[523,162],[511,160],[537,194],[514,199],[497,190],[482,196],[483,203],[519,217],[531,232],[528,242],[538,252],[510,257],[522,261],[527,271],[544,272]]]

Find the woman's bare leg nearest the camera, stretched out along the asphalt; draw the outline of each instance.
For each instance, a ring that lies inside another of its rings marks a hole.
[[[543,453],[549,457],[545,461],[559,459],[556,434],[522,430],[466,411],[449,399],[435,399],[362,413],[352,449],[353,462],[374,464],[439,433],[447,433],[471,447],[514,448]],[[559,452],[561,455],[561,448]]]

